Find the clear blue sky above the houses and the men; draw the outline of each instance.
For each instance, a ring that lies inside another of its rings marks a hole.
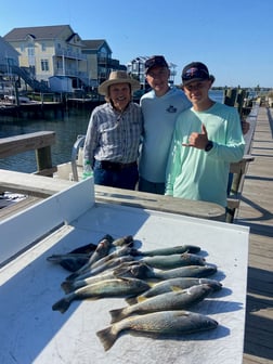
[[[214,86],[273,87],[272,0],[13,0],[0,15],[0,36],[17,27],[69,24],[82,39],[105,39],[113,58],[164,54],[176,82],[185,64],[202,61]]]

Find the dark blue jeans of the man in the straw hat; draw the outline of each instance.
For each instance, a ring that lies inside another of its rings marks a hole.
[[[121,169],[105,169],[99,160],[94,162],[94,183],[109,187],[135,190],[139,180],[136,164]]]

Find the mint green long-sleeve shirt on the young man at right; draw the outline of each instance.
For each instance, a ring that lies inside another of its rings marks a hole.
[[[183,146],[205,125],[213,142],[209,152]],[[226,206],[230,164],[244,156],[245,141],[234,107],[216,103],[205,112],[193,108],[177,119],[166,176],[166,195]]]

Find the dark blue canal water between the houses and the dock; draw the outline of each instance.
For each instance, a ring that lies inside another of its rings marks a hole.
[[[211,99],[223,101],[223,91],[211,91]],[[36,131],[54,131],[56,143],[52,145],[53,166],[67,162],[72,158],[72,148],[80,134],[86,134],[92,109],[70,108],[54,117],[46,115],[43,119],[24,119],[0,116],[0,138],[14,136]],[[31,173],[37,170],[35,151],[21,153],[0,159],[0,168]]]

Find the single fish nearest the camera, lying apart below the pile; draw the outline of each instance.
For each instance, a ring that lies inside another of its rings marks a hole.
[[[213,329],[218,322],[188,311],[159,311],[123,318],[96,333],[104,350],[109,350],[121,333],[153,338],[179,338],[183,335]]]

